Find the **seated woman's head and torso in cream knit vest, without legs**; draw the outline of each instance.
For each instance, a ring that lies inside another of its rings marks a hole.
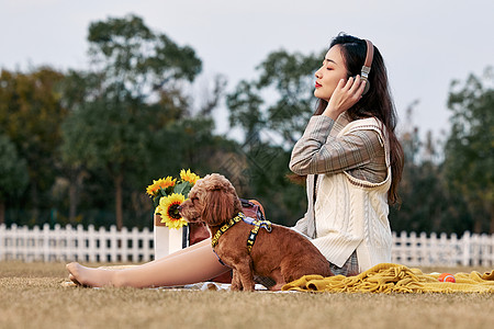
[[[358,75],[369,57],[364,81]],[[370,42],[337,36],[315,77],[318,109],[290,161],[307,175],[308,209],[295,229],[313,238],[335,274],[356,274],[391,261],[389,204],[397,201],[403,169],[396,114]]]

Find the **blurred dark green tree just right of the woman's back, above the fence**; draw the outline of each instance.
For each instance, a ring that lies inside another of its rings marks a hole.
[[[461,194],[448,190],[441,160],[441,141],[427,132],[425,140],[413,122],[418,101],[406,111],[398,136],[405,154],[401,204],[391,207],[390,223],[396,231],[444,231],[462,234],[472,227],[472,218]]]

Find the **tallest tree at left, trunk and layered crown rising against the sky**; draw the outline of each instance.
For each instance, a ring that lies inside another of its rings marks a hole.
[[[179,84],[194,79],[201,60],[192,48],[150,31],[134,15],[92,23],[88,41],[92,76],[100,79],[64,123],[64,159],[112,178],[120,229],[124,184],[156,157],[149,145],[159,132],[188,115]]]

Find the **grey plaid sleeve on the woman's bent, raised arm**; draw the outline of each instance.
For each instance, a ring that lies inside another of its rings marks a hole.
[[[373,131],[357,131],[340,137],[329,136],[334,121],[313,116],[293,147],[290,170],[296,174],[336,173],[366,166],[382,150]]]

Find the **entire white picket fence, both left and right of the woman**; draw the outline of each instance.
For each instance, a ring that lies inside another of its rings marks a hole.
[[[162,245],[164,241],[159,241]],[[48,225],[32,229],[0,225],[0,261],[89,261],[143,262],[155,256],[154,234],[147,228],[117,231],[114,226],[96,230],[93,226]],[[400,235],[393,232],[392,262],[409,266],[494,265],[494,235],[465,231],[452,234]]]

